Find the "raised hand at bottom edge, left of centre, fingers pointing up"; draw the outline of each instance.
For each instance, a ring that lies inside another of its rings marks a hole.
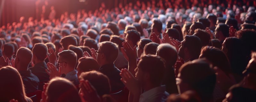
[[[79,95],[82,102],[101,102],[100,96],[98,95],[96,89],[88,80],[81,80],[80,82],[81,84],[79,87],[81,90],[79,91]]]

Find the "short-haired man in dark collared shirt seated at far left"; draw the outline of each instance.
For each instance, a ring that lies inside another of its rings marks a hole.
[[[28,70],[28,65],[32,60],[32,51],[21,47],[16,54],[14,67],[19,71],[26,93],[38,90],[39,79]]]

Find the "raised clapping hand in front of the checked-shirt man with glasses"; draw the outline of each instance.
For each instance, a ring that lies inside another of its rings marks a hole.
[[[47,63],[47,69],[45,69],[45,72],[50,76],[50,79],[57,77],[61,75],[61,67],[59,67],[59,71],[57,70],[57,68],[52,64],[52,63]]]

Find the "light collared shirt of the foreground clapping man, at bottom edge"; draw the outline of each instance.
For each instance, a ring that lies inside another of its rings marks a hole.
[[[165,85],[162,85],[142,93],[139,102],[165,102],[168,96]]]

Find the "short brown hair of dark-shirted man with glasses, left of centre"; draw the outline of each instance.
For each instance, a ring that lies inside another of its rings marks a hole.
[[[100,52],[106,56],[106,60],[114,63],[119,53],[118,45],[112,42],[101,42],[99,44]]]

